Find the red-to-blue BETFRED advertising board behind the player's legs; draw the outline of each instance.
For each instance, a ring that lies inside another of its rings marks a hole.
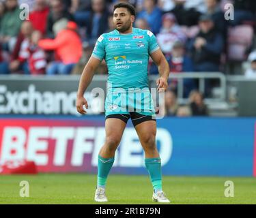
[[[256,176],[255,118],[160,119],[162,173]],[[35,161],[39,172],[97,172],[104,116],[2,116],[0,163]],[[129,121],[111,171],[147,174],[143,150]]]

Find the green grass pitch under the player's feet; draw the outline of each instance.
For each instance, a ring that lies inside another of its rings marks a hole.
[[[233,181],[233,198],[225,198],[224,183]],[[29,198],[20,198],[20,181],[29,182]],[[0,176],[0,204],[96,204],[96,175],[38,174]],[[255,178],[164,176],[172,204],[256,204]],[[108,204],[156,204],[147,176],[110,175]]]

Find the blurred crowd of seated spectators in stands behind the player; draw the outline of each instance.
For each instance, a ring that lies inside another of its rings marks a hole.
[[[156,35],[171,73],[244,72],[256,78],[253,0],[0,0],[0,74],[81,74],[98,37],[114,29],[117,2],[136,7],[134,27]],[[29,15],[21,19],[24,3]],[[234,13],[228,11],[232,9]],[[97,73],[107,73],[104,61]],[[150,61],[149,74],[157,73]],[[177,80],[170,80],[166,113],[208,114],[203,95],[195,89],[197,83],[185,79],[190,105],[177,106]]]

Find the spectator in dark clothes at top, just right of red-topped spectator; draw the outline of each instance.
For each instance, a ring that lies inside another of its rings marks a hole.
[[[63,18],[66,18],[67,20],[74,20],[72,14],[66,10],[65,5],[61,0],[52,0],[51,11],[47,17],[47,37],[54,38],[53,25]]]

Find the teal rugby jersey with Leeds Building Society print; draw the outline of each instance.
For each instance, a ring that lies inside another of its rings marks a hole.
[[[120,34],[116,29],[100,35],[92,57],[105,59],[109,69],[108,88],[143,89],[148,87],[147,65],[150,54],[158,50],[155,35],[148,30],[132,28]]]

